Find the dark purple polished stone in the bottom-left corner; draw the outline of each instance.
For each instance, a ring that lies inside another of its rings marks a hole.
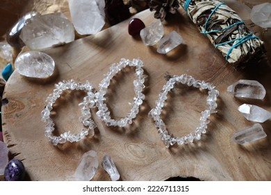
[[[6,181],[22,181],[26,175],[24,164],[19,159],[11,159],[5,168]]]

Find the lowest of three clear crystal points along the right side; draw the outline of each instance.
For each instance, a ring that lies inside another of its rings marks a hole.
[[[260,124],[256,123],[250,127],[235,132],[233,134],[233,137],[231,138],[231,141],[238,144],[245,144],[256,141],[258,139],[262,139],[264,137],[266,137],[266,134],[263,131],[263,127]]]

